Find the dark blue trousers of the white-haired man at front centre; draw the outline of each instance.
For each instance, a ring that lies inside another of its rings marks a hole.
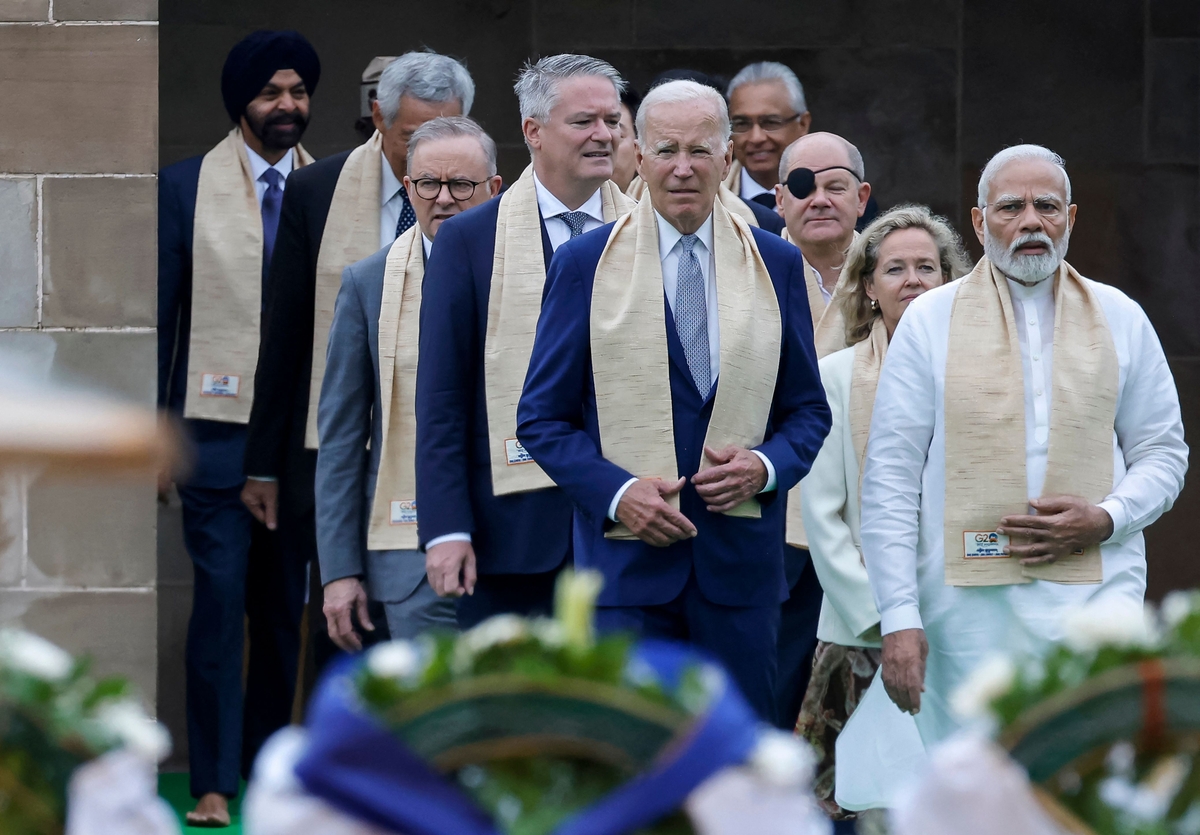
[[[696,575],[662,606],[600,606],[596,627],[686,641],[720,661],[758,715],[775,715],[779,606],[721,606],[704,597]]]

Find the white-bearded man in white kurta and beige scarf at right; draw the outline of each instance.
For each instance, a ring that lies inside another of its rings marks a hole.
[[[986,254],[896,328],[863,479],[883,683],[926,745],[955,728],[949,696],[989,654],[1058,639],[1088,601],[1141,606],[1141,531],[1187,470],[1146,314],[1063,260],[1062,158],[1001,151],[971,212]]]

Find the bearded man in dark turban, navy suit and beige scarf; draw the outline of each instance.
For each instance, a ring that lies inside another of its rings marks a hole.
[[[248,35],[221,73],[234,128],[158,175],[158,407],[184,419],[196,462],[175,479],[196,576],[186,650],[192,825],[229,824],[228,798],[292,716],[307,554],[257,522],[240,493],[264,277],[283,192],[313,161],[299,143],[319,78],[304,36]],[[160,479],[162,497],[172,477]]]

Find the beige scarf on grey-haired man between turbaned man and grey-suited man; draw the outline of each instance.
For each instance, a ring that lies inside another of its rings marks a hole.
[[[317,253],[317,287],[312,328],[312,377],[308,382],[308,425],[305,446],[317,449],[317,406],[325,379],[325,349],[334,323],[334,304],[342,270],[379,250],[379,188],[383,181],[383,137],[376,131],[359,145],[337,175],[329,217]]]

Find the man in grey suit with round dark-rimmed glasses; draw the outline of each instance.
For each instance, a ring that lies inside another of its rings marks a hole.
[[[424,260],[438,227],[499,193],[496,143],[466,116],[427,121],[408,140],[404,188],[413,198],[416,227],[342,274],[317,418],[317,552],[324,612],[330,638],[347,651],[362,648],[355,625],[374,630],[368,596],[383,602],[394,638],[455,627],[455,601],[438,597],[430,587],[425,555],[415,541],[410,548],[373,547],[397,541],[396,527],[415,529],[416,518],[415,501],[389,503],[391,493],[377,501],[376,488],[380,470],[389,482],[386,488],[380,483],[380,489],[390,489],[392,482],[404,481],[403,473],[395,473],[412,469],[410,461],[394,457],[396,447],[398,455],[412,457],[408,435],[415,418],[409,421],[413,402],[404,397],[410,384],[403,377],[404,348],[392,343],[416,344],[416,334],[409,332],[415,322],[407,312],[414,304],[420,307]],[[414,240],[418,235],[419,241]],[[390,253],[392,266],[386,272]],[[407,270],[402,253],[408,253]],[[391,320],[380,320],[380,311]],[[380,331],[385,335],[382,378]],[[383,453],[388,458],[380,468]],[[374,540],[372,547],[368,540]]]

